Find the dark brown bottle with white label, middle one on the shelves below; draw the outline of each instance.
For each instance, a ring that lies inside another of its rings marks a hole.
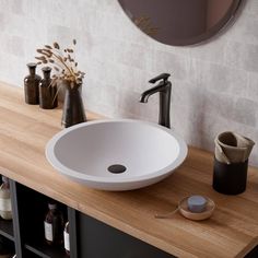
[[[61,245],[63,243],[63,216],[56,203],[48,203],[48,212],[44,221],[45,239],[48,245]]]

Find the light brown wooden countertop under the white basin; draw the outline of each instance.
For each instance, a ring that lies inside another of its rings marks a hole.
[[[98,117],[87,113],[87,118]],[[58,174],[45,157],[60,119],[61,109],[26,105],[23,89],[0,83],[0,174],[178,257],[244,257],[258,245],[257,168],[249,167],[244,194],[221,195],[211,187],[212,154],[189,148],[180,168],[156,185],[125,192],[93,190]],[[215,201],[211,219],[194,222],[178,213],[154,219],[192,194]]]

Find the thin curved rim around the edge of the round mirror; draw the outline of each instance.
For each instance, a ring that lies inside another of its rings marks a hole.
[[[125,4],[121,2],[121,0],[118,0],[121,9],[124,10],[125,14],[127,15],[127,8],[125,7]],[[171,46],[188,46],[188,45],[199,45],[199,44],[203,44],[206,42],[209,42],[211,38],[213,38],[216,35],[220,35],[222,32],[224,32],[230,25],[233,24],[233,22],[235,21],[235,16],[238,13],[238,10],[241,10],[241,7],[244,5],[245,0],[233,0],[233,3],[231,4],[230,9],[226,11],[226,13],[223,15],[223,17],[214,25],[212,26],[210,30],[208,30],[206,33],[200,34],[198,36],[195,37],[190,37],[190,38],[177,38],[177,39],[173,39],[169,43],[165,43],[162,40],[159,40],[159,38],[155,38],[155,36],[145,34],[140,27],[138,27],[133,21],[131,21],[142,33],[144,33],[145,35],[148,35],[149,37],[153,38],[156,42],[163,43],[165,45],[171,45]],[[128,16],[128,15],[127,15]],[[130,19],[128,16],[128,19]],[[131,20],[131,19],[130,19]]]

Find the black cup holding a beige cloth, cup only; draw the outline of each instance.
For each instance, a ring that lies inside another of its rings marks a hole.
[[[246,189],[248,160],[225,164],[214,157],[213,189],[225,195],[238,195]]]

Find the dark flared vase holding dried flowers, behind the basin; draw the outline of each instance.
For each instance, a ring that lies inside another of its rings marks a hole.
[[[67,82],[66,87],[62,120],[61,125],[64,128],[86,121],[86,115],[81,96],[82,83]]]

